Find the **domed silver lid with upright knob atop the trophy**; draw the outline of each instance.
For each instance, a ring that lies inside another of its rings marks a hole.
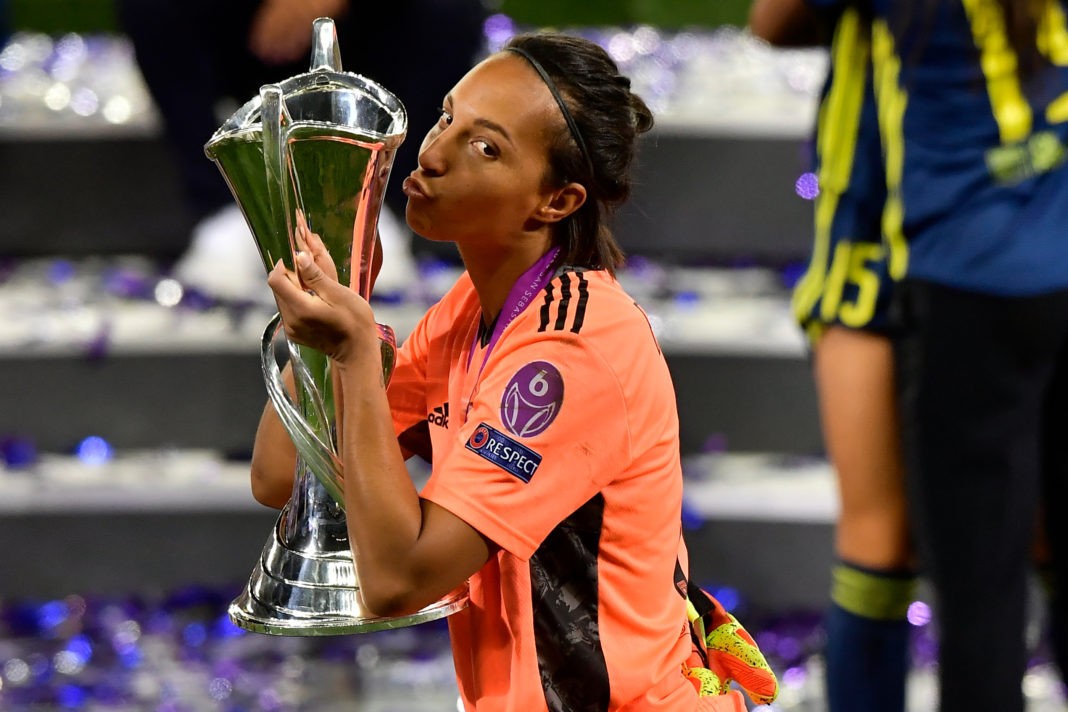
[[[381,142],[395,148],[408,130],[404,105],[392,92],[367,77],[344,72],[334,22],[320,17],[312,26],[309,72],[278,82],[287,116],[294,125],[319,126]],[[261,96],[254,96],[227,118],[204,146],[215,158],[215,146],[227,139],[258,133],[262,129]]]

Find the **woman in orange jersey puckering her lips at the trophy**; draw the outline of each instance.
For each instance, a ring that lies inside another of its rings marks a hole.
[[[404,191],[412,230],[455,242],[467,272],[388,389],[371,307],[316,236],[268,279],[287,335],[333,362],[366,606],[411,613],[470,581],[449,620],[469,710],[698,709],[674,392],[607,227],[651,124],[577,37],[517,37],[454,86]],[[412,454],[433,464],[421,493]],[[292,472],[268,409],[256,497],[284,504]]]

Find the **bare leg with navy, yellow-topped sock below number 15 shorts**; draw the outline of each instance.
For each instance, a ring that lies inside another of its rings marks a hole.
[[[828,709],[902,712],[915,576],[891,343],[831,327],[816,343],[815,375],[841,502],[824,617]]]

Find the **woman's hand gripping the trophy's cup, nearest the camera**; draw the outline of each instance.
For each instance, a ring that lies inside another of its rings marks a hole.
[[[301,226],[302,227],[302,226]],[[296,272],[281,260],[267,275],[274,291],[285,335],[293,342],[323,351],[339,365],[357,359],[380,359],[378,330],[371,305],[337,282],[330,255],[317,235],[298,227]]]

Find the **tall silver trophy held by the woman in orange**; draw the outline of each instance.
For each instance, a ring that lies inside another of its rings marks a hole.
[[[245,213],[265,270],[279,259],[294,268],[295,228],[304,221],[323,238],[339,281],[367,299],[378,215],[407,114],[384,88],[342,70],[332,20],[315,20],[312,32],[310,70],[262,88],[204,151]],[[389,327],[378,331],[388,381],[396,339]],[[408,616],[382,618],[363,608],[339,487],[329,359],[285,342],[293,399],[276,357],[282,338],[276,315],[261,360],[271,404],[296,445],[294,489],[230,617],[249,631],[307,636],[400,628],[459,611],[467,604],[462,590]]]

